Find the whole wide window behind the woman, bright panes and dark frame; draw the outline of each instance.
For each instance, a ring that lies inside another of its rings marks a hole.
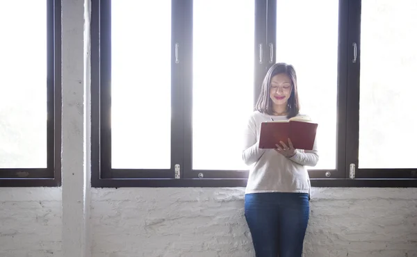
[[[93,0],[92,185],[245,186],[239,133],[277,62],[319,123],[312,185],[417,185],[417,11],[400,3]]]

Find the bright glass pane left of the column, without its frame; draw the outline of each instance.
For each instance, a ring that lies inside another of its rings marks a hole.
[[[0,168],[47,167],[46,4],[0,3]]]

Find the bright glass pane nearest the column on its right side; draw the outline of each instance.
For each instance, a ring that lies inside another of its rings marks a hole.
[[[111,1],[112,167],[169,169],[171,1]]]

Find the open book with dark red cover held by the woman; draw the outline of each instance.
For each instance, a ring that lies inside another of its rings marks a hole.
[[[277,148],[279,141],[288,146],[288,138],[293,142],[295,149],[312,150],[316,140],[318,124],[311,122],[306,116],[296,116],[289,120],[279,120],[261,123],[259,148]],[[289,146],[288,146],[289,147]]]

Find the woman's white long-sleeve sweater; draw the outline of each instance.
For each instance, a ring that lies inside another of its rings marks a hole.
[[[313,150],[297,149],[296,154],[286,158],[274,149],[259,149],[261,122],[272,119],[287,119],[286,116],[272,116],[255,111],[245,128],[243,160],[250,165],[245,193],[259,192],[310,192],[310,179],[305,166],[318,162],[317,142]],[[288,145],[288,144],[287,144]]]

